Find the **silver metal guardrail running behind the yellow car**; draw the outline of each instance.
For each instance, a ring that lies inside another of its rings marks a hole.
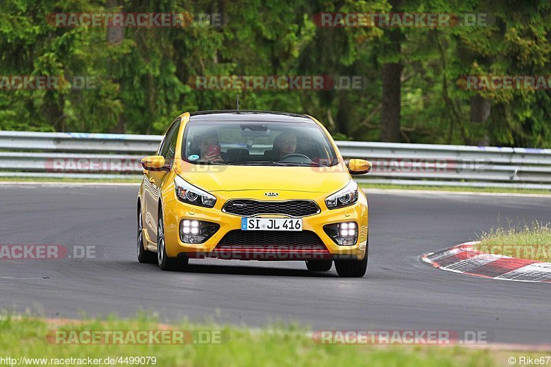
[[[0,131],[1,177],[138,178],[159,135]],[[373,162],[358,182],[551,189],[551,149],[338,141]]]

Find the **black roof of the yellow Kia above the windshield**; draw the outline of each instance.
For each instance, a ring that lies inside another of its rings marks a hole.
[[[251,121],[264,123],[315,123],[310,117],[303,114],[289,112],[253,111],[240,109],[222,109],[216,111],[199,111],[189,114],[189,122],[200,121]]]

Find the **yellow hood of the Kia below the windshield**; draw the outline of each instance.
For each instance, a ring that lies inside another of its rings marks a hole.
[[[192,165],[182,161],[178,175],[205,191],[303,191],[333,193],[351,179],[344,164],[334,167]]]

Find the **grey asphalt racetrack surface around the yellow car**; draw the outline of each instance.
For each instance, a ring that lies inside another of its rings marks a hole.
[[[551,344],[550,284],[489,280],[419,262],[507,219],[551,221],[551,198],[369,193],[368,273],[311,273],[304,262],[136,260],[138,186],[0,184],[0,244],[95,246],[95,259],[0,260],[0,308],[45,317],[158,313],[169,321],[321,329],[490,331]]]

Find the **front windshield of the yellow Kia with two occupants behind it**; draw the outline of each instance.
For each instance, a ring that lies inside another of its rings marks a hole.
[[[333,166],[337,154],[314,123],[190,121],[182,158],[194,164]]]

